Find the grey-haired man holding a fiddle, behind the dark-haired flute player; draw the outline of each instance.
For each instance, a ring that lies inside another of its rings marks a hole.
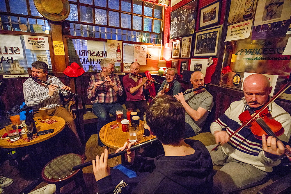
[[[169,68],[166,74],[166,80],[163,81],[157,96],[171,95],[174,96],[182,92],[182,85],[176,80],[178,71],[176,68]]]

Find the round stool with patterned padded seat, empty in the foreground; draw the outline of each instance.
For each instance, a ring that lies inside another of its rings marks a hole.
[[[81,185],[83,193],[88,193],[82,170],[71,170],[72,166],[83,163],[84,159],[78,154],[64,154],[58,156],[49,161],[42,169],[42,180],[49,184],[55,184],[56,193],[60,193],[60,188],[73,180],[76,187]]]

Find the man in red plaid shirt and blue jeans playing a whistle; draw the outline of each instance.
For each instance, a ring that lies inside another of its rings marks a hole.
[[[102,71],[96,73],[90,78],[87,89],[87,97],[93,104],[93,113],[98,117],[97,132],[111,121],[109,113],[115,115],[116,110],[123,110],[123,117],[126,118],[126,110],[117,102],[117,95],[122,96],[123,88],[117,75],[111,74],[114,61],[104,58],[100,62]],[[103,81],[106,81],[103,83]],[[102,85],[101,85],[102,84]],[[101,87],[97,89],[97,87]],[[105,146],[98,138],[99,146]]]

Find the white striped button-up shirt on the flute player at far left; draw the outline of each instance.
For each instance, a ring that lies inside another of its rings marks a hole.
[[[58,87],[63,87],[64,84],[55,76],[47,75],[47,82]],[[49,85],[42,86],[37,83],[32,78],[28,78],[23,83],[23,94],[25,104],[29,107],[32,107],[34,111],[37,111],[39,108],[48,107],[48,109],[54,109],[62,105],[60,94],[67,96],[68,92],[57,89],[54,92],[54,95],[49,97]]]

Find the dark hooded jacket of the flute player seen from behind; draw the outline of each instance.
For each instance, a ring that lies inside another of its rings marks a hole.
[[[128,178],[120,170],[97,181],[99,193],[210,193],[213,187],[212,160],[198,140],[185,140],[195,153],[187,156],[136,158],[130,168],[137,177]],[[118,172],[119,171],[119,172]]]

